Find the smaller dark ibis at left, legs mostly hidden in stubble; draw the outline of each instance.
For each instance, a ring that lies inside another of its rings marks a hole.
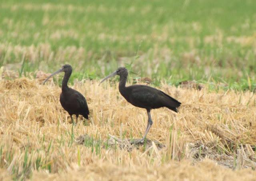
[[[60,73],[65,72],[64,78],[62,80],[62,92],[60,94],[60,104],[62,107],[68,112],[68,114],[71,117],[72,123],[74,123],[72,115],[76,115],[76,122],[78,119],[78,115],[84,116],[84,118],[88,119],[89,115],[89,109],[86,102],[86,99],[84,96],[68,87],[68,80],[70,78],[70,75],[72,73],[72,67],[68,64],[62,66],[60,70],[57,70],[56,72],[52,73],[44,82],[43,84],[52,76]]]

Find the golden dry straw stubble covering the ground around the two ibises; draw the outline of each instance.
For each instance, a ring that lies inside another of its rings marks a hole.
[[[98,83],[75,81],[72,86],[90,109],[90,121],[84,125],[80,117],[73,140],[58,86],[42,85],[40,78],[0,76],[0,179],[255,180],[254,93],[162,83],[159,89],[182,102],[179,113],[152,110],[154,124],[147,138],[165,147],[152,143],[127,150],[122,143],[107,147],[106,141],[113,141],[108,134],[140,138],[146,111],[129,104],[118,83]],[[85,134],[94,143],[77,144]]]

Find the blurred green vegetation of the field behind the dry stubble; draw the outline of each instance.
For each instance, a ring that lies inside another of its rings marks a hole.
[[[254,0],[1,1],[0,66],[53,72],[68,63],[72,80],[126,66],[156,86],[196,80],[253,91],[255,10]]]

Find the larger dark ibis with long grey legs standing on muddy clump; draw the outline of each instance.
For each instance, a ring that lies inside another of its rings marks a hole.
[[[120,82],[119,82],[119,91],[121,95],[132,105],[136,107],[145,108],[148,113],[148,125],[145,131],[144,136],[142,139],[138,141],[134,141],[133,143],[143,143],[144,139],[146,138],[146,135],[150,129],[150,127],[153,124],[153,121],[151,119],[150,110],[151,109],[157,109],[160,107],[167,107],[175,112],[178,112],[177,108],[180,106],[180,102],[176,99],[170,97],[166,93],[144,85],[132,85],[126,87],[126,80],[128,76],[128,71],[124,67],[118,68],[115,72],[104,78],[100,84],[113,76],[120,76]]]

